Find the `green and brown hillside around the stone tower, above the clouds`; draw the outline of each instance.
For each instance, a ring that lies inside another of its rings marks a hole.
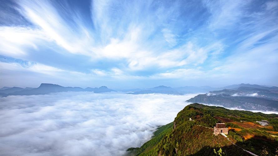
[[[190,121],[189,119],[194,121]],[[256,121],[267,120],[261,126]],[[228,138],[213,134],[216,123],[229,127]],[[278,154],[278,115],[228,110],[223,107],[191,104],[181,110],[173,123],[159,127],[154,137],[140,148],[129,148],[128,155],[222,155]],[[241,149],[241,147],[243,149]],[[276,149],[277,148],[277,149]]]

